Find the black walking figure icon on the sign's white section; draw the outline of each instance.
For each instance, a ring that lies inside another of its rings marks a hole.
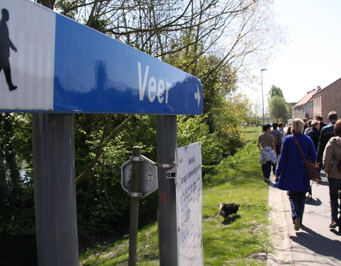
[[[13,91],[17,87],[13,85],[11,78],[11,66],[9,65],[9,48],[16,52],[16,47],[9,39],[9,28],[6,22],[9,21],[9,11],[7,9],[1,10],[2,18],[0,21],[0,72],[4,70],[7,85],[9,90]]]

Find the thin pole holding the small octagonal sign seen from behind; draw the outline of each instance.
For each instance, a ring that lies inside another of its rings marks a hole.
[[[136,196],[131,195],[130,198],[130,223],[129,223],[129,266],[136,266],[136,250],[137,250],[137,228],[139,226],[139,194],[141,183],[141,162],[137,159],[141,157],[141,148],[133,147],[132,162],[132,178],[131,192],[135,192]]]

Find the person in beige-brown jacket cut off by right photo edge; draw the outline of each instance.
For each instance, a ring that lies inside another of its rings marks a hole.
[[[331,223],[330,228],[339,227],[341,231],[341,216],[339,210],[339,191],[341,190],[341,119],[334,125],[335,137],[330,138],[323,153],[323,165],[328,177]]]

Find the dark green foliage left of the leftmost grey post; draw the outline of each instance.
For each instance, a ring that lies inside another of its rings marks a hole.
[[[31,157],[28,116],[0,113],[0,233],[34,233],[33,181],[28,177],[31,163],[21,175],[23,156]],[[20,132],[16,130],[21,123]],[[28,136],[27,136],[28,135]]]

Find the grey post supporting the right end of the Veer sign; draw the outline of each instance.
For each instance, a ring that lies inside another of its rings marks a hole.
[[[178,265],[175,180],[166,172],[175,161],[178,143],[176,116],[156,116],[158,157],[158,245],[161,266]]]

